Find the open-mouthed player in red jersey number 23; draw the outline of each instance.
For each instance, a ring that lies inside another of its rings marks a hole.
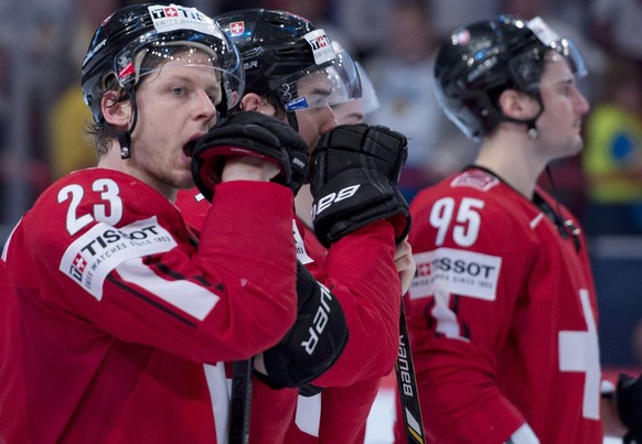
[[[82,77],[98,167],[45,191],[0,261],[0,442],[227,442],[220,362],[275,346],[297,316],[289,172],[307,153],[271,118],[212,128],[243,78],[196,9],[138,4],[99,25]],[[173,201],[212,153],[196,239]]]

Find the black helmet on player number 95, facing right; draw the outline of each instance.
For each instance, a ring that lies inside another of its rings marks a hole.
[[[497,99],[504,89],[514,88],[539,100],[539,113],[531,120],[518,121],[529,130],[535,129],[535,121],[544,110],[539,78],[552,51],[567,61],[576,78],[587,74],[574,42],[557,36],[541,18],[524,21],[500,15],[460,28],[436,56],[435,87],[439,105],[468,138],[479,140],[497,122],[512,120],[503,116]]]

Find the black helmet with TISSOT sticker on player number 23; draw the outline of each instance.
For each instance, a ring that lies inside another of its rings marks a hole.
[[[83,61],[83,94],[96,122],[103,120],[98,91],[110,76],[132,95],[140,76],[147,74],[141,72],[145,55],[170,59],[176,46],[204,52],[221,73],[218,112],[225,115],[238,102],[245,84],[240,57],[211,18],[179,4],[135,4],[103,21]]]

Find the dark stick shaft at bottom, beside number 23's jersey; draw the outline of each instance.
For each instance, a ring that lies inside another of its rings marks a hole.
[[[234,362],[229,400],[229,444],[249,443],[253,360]]]

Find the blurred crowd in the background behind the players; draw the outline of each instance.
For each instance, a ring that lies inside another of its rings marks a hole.
[[[143,1],[0,0],[0,236],[69,171],[95,164],[83,136],[90,119],[79,67],[110,12]],[[169,1],[168,1],[169,2]],[[287,10],[323,28],[368,73],[379,108],[370,123],[409,139],[402,187],[418,188],[466,166],[477,147],[434,98],[432,58],[452,30],[499,13],[542,17],[579,46],[591,104],[582,153],[550,165],[542,185],[580,218],[589,237],[602,360],[642,365],[642,0],[183,0],[211,15],[242,8]],[[636,334],[635,332],[640,332]]]

